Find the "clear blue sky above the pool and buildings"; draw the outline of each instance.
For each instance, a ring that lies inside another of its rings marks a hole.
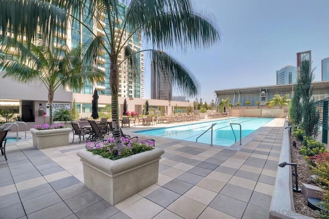
[[[312,50],[315,80],[329,56],[327,0],[195,0],[196,11],[215,16],[222,40],[212,48],[171,53],[201,85],[198,99],[215,90],[276,84],[276,71],[296,66],[296,53]],[[150,98],[150,62],[145,62],[145,98]],[[180,95],[175,91],[176,95]],[[190,97],[194,101],[195,97]]]

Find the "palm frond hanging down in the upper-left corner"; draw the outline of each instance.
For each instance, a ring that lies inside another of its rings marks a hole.
[[[36,0],[0,1],[0,28],[5,36],[7,29],[13,38],[23,42],[23,36],[29,45],[38,34],[38,26],[43,37],[49,39],[54,32],[65,34],[66,13],[56,5]]]

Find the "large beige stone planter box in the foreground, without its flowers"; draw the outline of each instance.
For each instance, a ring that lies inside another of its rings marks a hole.
[[[158,182],[159,160],[164,151],[154,148],[112,161],[87,150],[78,151],[83,164],[84,184],[116,205]]]

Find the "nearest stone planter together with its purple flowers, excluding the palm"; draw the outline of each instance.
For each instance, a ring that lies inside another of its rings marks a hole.
[[[118,151],[114,138],[86,145],[78,151],[83,165],[84,184],[111,205],[158,182],[159,160],[164,153],[154,148],[154,140],[121,138]],[[101,186],[100,186],[101,185]]]

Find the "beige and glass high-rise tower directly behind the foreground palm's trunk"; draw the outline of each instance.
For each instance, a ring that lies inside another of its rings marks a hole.
[[[122,13],[126,13],[126,6],[120,5],[120,11]],[[107,18],[105,17],[104,13],[100,13],[98,15],[98,19],[100,22],[93,22],[90,21],[88,11],[82,11],[82,19],[84,24],[79,22],[72,21],[71,25],[71,45],[75,47],[79,44],[90,44],[93,41],[95,35],[97,36],[110,36],[109,33],[109,26]],[[85,26],[93,27],[93,33],[91,33]],[[126,41],[129,35],[129,31],[127,29],[124,30],[124,33],[119,33],[120,29],[115,28],[115,35],[123,34],[123,41]],[[69,37],[68,37],[69,38]],[[133,51],[137,52],[141,50],[141,34],[136,32],[133,34],[133,37],[129,39],[125,43],[124,46],[129,46]],[[105,81],[98,82],[98,84],[84,84],[81,91],[74,91],[75,93],[82,93],[82,94],[92,94],[94,89],[97,88],[99,94],[102,95],[111,95],[111,89],[109,85],[109,72],[110,72],[110,61],[108,54],[103,50],[98,50],[98,57],[95,62],[95,66],[105,72]],[[129,61],[124,61],[119,66],[119,96],[122,97],[130,97],[130,98],[142,98],[144,97],[144,54],[143,53],[136,53],[137,55],[137,65],[140,69],[140,75],[133,73],[133,68],[130,65]],[[124,58],[124,50],[121,51],[121,54],[118,55],[118,63],[121,63]]]

